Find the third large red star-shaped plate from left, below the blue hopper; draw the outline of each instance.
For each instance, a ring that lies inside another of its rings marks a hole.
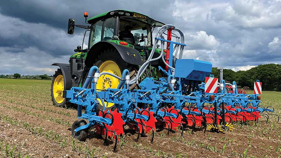
[[[167,109],[168,109],[169,113],[174,113],[176,115],[179,114],[179,110],[175,109],[174,106],[172,106],[171,108],[167,107]],[[174,110],[172,110],[172,109],[174,109]],[[171,126],[172,126],[173,130],[178,130],[178,127],[180,126],[181,120],[183,119],[183,117],[179,114],[179,116],[177,118],[165,116],[165,117],[163,117],[163,119],[165,119],[164,121],[169,123],[169,124],[172,123]],[[166,120],[170,120],[171,122],[166,121]],[[165,126],[167,126],[166,123],[165,123]],[[166,128],[168,128],[168,127],[166,127]]]

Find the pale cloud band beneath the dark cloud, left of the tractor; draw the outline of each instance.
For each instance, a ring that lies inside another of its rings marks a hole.
[[[61,56],[60,58],[54,58],[52,55],[47,54],[44,51],[38,50],[35,47],[25,48],[18,53],[6,52],[9,48],[0,47],[1,69],[0,74],[14,74],[19,73],[21,75],[35,75],[35,74],[54,74],[57,70],[57,66],[51,66],[52,63],[63,62],[67,63],[69,56]],[[12,59],[12,60],[7,60]]]

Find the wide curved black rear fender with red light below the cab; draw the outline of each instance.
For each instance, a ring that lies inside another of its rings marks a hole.
[[[85,60],[86,66],[92,66],[96,61],[95,59],[98,57],[98,55],[100,55],[102,51],[107,49],[117,50],[122,59],[129,64],[142,65],[141,55],[136,49],[118,45],[109,41],[100,41],[93,45],[89,50]]]

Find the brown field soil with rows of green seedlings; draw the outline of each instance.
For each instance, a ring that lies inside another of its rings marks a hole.
[[[281,157],[281,124],[275,116],[269,123],[264,117],[243,126],[234,123],[226,133],[186,128],[184,138],[180,131],[167,135],[158,129],[152,144],[150,135],[135,141],[137,134],[125,127],[116,152],[111,140],[103,146],[104,137],[95,129],[80,142],[71,137],[76,110],[54,107],[50,85],[48,80],[0,79],[0,157]],[[274,106],[280,115],[280,92],[263,92],[261,98],[261,105]]]

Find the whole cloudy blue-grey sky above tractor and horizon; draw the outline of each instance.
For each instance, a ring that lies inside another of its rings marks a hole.
[[[69,18],[124,9],[143,13],[185,33],[185,58],[210,61],[233,70],[281,64],[281,0],[141,0],[0,2],[0,74],[48,74],[68,63],[83,30],[67,34]]]

